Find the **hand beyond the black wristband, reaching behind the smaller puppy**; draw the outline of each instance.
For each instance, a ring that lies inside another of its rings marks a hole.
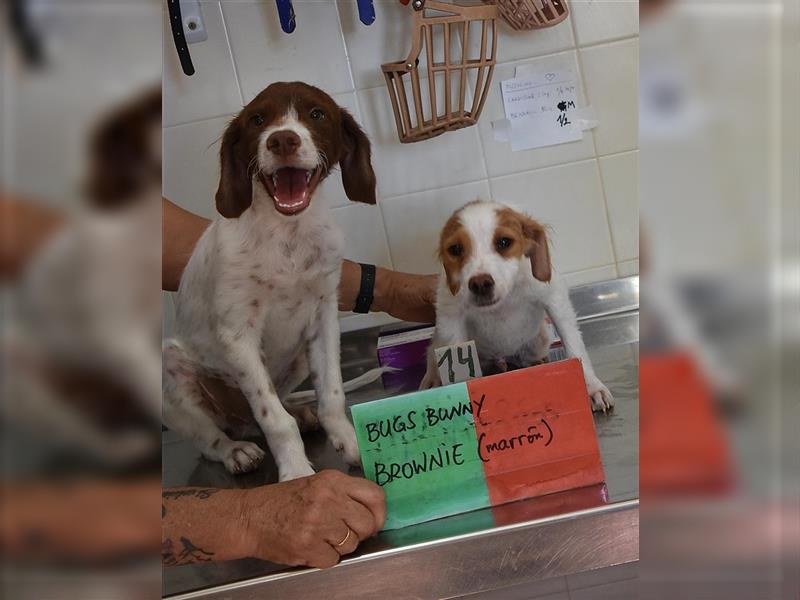
[[[383,300],[380,310],[403,321],[417,323],[436,321],[438,275],[413,275],[383,269],[381,271],[378,275],[378,285],[385,284],[385,291],[379,292]],[[383,282],[381,282],[382,276],[385,279]]]

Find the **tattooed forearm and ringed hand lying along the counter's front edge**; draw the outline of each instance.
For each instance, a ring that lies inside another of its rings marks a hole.
[[[164,490],[164,566],[259,558],[332,567],[386,518],[383,490],[339,471],[253,489]]]

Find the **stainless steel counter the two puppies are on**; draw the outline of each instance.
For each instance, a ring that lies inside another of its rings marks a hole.
[[[258,560],[173,567],[164,571],[164,595],[220,600],[387,594],[440,598],[638,560],[639,280],[581,286],[571,296],[595,370],[616,398],[613,412],[595,416],[607,503],[599,491],[567,492],[384,532],[326,571]],[[342,337],[345,378],[377,365],[376,341],[377,329]],[[378,381],[348,394],[347,401],[353,405],[393,392]],[[318,468],[347,470],[322,432],[307,435],[305,442]],[[191,443],[172,432],[164,434],[165,486],[252,487],[276,480],[269,458],[256,473],[233,477],[222,465],[200,457]]]

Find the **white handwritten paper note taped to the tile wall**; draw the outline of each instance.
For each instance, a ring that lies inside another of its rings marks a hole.
[[[528,70],[524,76],[503,81],[501,90],[512,150],[583,138],[575,116],[578,79],[572,68]]]

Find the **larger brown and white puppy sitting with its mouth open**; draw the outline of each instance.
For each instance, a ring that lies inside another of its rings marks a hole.
[[[203,234],[181,278],[175,337],[163,346],[164,420],[230,472],[256,468],[264,452],[232,440],[244,432],[209,402],[203,378],[221,378],[247,398],[280,479],[310,475],[282,405],[310,372],[321,425],[357,464],[339,367],[344,240],[314,192],[338,164],[347,196],[374,204],[369,140],[322,90],[275,83],[231,121],[220,161],[225,218]]]

